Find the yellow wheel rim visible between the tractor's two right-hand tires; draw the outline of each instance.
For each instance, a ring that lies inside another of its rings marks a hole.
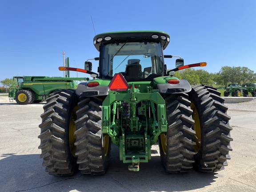
[[[200,145],[201,145],[201,126],[200,126],[200,119],[199,119],[199,115],[198,112],[196,110],[196,106],[194,104],[191,103],[191,109],[193,110],[193,115],[192,118],[195,121],[194,124],[194,130],[196,131],[195,134],[195,141],[196,141],[196,145],[195,145],[195,151],[198,152],[200,149]]]

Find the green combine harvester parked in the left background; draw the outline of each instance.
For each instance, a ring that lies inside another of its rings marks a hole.
[[[11,88],[9,101],[16,100],[18,104],[39,103],[48,98],[49,94],[60,89],[75,89],[76,80],[86,80],[84,77],[46,77],[46,76],[14,76],[16,88]],[[88,79],[87,79],[88,80]]]

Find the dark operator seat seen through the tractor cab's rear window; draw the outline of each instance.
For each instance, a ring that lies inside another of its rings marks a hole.
[[[142,77],[141,65],[139,59],[130,59],[125,68],[125,79],[138,79]]]

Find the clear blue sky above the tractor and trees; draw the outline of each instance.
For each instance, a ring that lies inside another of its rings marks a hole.
[[[256,0],[0,0],[0,81],[63,76],[63,50],[70,67],[84,68],[84,61],[99,56],[94,29],[168,32],[164,54],[181,56],[185,64],[256,72]],[[175,59],[165,63],[174,68]],[[98,61],[92,64],[96,72]]]

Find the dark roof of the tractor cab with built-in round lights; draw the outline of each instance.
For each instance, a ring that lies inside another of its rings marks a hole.
[[[93,38],[93,44],[98,51],[101,44],[147,41],[161,42],[165,49],[170,42],[170,36],[162,31],[119,31],[100,33]]]

